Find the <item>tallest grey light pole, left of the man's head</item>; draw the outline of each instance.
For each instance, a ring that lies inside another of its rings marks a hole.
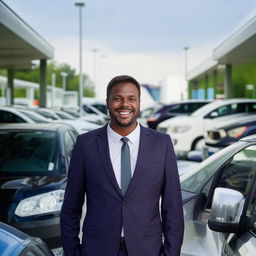
[[[82,73],[82,7],[85,6],[84,3],[79,2],[75,3],[75,6],[79,9],[79,112],[80,116],[82,115],[82,107],[83,107],[83,73]]]

